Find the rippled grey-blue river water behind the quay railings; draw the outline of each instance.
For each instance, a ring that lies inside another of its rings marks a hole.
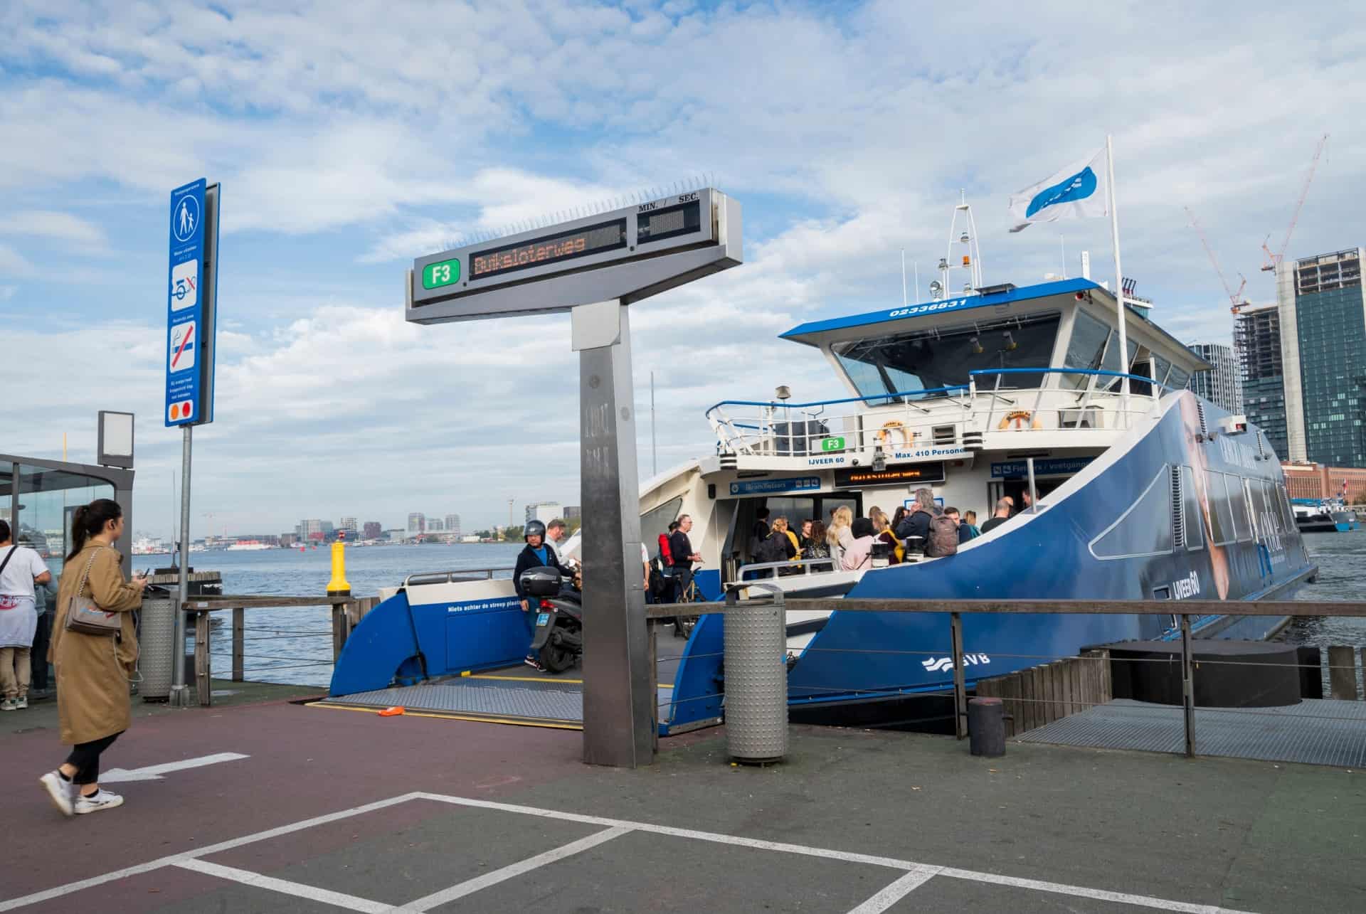
[[[1318,562],[1320,577],[1318,583],[1299,592],[1299,600],[1361,600],[1366,596],[1366,530],[1310,533],[1305,542]],[[346,574],[355,596],[372,596],[380,587],[398,586],[406,575],[423,571],[511,568],[519,549],[520,544],[348,548]],[[328,549],[199,552],[191,559],[198,570],[221,571],[224,593],[240,596],[322,594],[332,575]],[[131,567],[139,571],[165,564],[167,556],[133,556],[131,560]],[[213,669],[225,676],[232,668],[229,613],[214,616]],[[326,608],[249,609],[246,624],[247,679],[328,684],[332,628]],[[1281,638],[1309,645],[1363,645],[1366,619],[1296,619]]]

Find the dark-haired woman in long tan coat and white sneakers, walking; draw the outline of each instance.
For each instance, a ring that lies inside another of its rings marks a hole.
[[[133,611],[142,605],[148,581],[138,577],[124,582],[119,570],[123,556],[113,549],[120,536],[123,510],[109,499],[96,499],[71,518],[74,548],[61,568],[48,660],[57,671],[61,742],[72,749],[60,768],[40,779],[64,816],[123,803],[117,794],[100,790],[100,753],[133,719],[128,682],[138,665]],[[67,631],[67,611],[78,590],[100,609],[119,613],[117,635]]]

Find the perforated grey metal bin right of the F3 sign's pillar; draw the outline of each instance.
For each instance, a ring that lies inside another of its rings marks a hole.
[[[725,749],[759,764],[787,754],[787,611],[773,585],[747,586],[773,596],[725,596]]]

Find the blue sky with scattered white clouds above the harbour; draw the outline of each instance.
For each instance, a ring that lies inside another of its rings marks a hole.
[[[417,255],[471,230],[699,172],[744,206],[746,264],[632,314],[658,462],[712,451],[703,408],[837,396],[814,317],[922,283],[959,189],[988,281],[1093,253],[1105,220],[1007,234],[1007,195],[1115,135],[1126,273],[1187,340],[1227,340],[1218,279],[1273,296],[1290,255],[1363,240],[1366,20],[1283,3],[0,4],[0,451],[93,459],[138,424],[138,527],[169,533],[161,428],[167,199],[223,183],[217,422],[195,534],[408,511],[500,522],[578,501],[567,318],[403,321]],[[923,295],[922,295],[923,298]],[[641,466],[649,474],[649,426]],[[158,521],[164,518],[165,521]]]

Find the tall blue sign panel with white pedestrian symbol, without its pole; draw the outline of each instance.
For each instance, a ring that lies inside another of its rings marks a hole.
[[[167,272],[167,399],[165,424],[202,425],[213,419],[205,403],[205,378],[212,383],[212,328],[205,303],[205,187],[201,178],[171,191],[171,261]],[[209,316],[212,322],[212,316]]]

